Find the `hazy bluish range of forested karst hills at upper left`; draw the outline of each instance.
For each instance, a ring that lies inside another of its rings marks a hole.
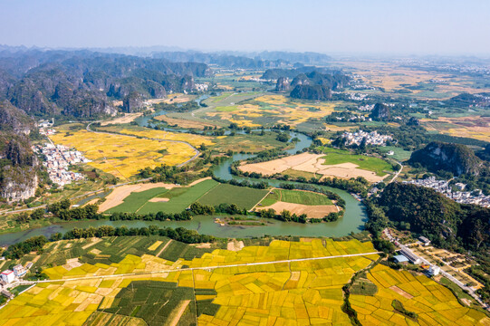
[[[0,100],[30,115],[93,118],[115,114],[113,100],[192,91],[207,65],[89,51],[0,53]]]

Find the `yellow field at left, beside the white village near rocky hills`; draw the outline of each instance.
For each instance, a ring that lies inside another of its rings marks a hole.
[[[183,143],[137,139],[135,137],[72,131],[68,135],[58,132],[51,136],[55,144],[82,151],[94,168],[115,177],[128,178],[140,168],[155,168],[161,164],[178,165],[192,158],[194,150]],[[166,150],[163,154],[161,150]]]

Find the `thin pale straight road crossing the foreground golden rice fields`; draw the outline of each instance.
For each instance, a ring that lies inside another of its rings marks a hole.
[[[71,281],[82,281],[82,280],[90,280],[90,279],[98,279],[98,278],[144,276],[144,275],[150,275],[150,274],[155,274],[155,273],[174,273],[174,272],[202,271],[202,270],[210,271],[210,270],[214,270],[214,269],[218,269],[218,268],[257,266],[257,265],[264,265],[264,264],[283,264],[283,263],[294,263],[294,262],[307,262],[307,261],[314,261],[314,260],[335,259],[335,258],[343,258],[343,257],[357,257],[357,256],[370,255],[370,254],[381,254],[381,252],[362,253],[362,254],[340,254],[340,255],[333,255],[333,256],[312,257],[312,258],[285,259],[285,260],[272,261],[272,262],[227,264],[227,265],[216,265],[216,266],[207,266],[207,267],[187,267],[187,268],[180,268],[180,269],[173,269],[173,270],[141,272],[141,273],[120,273],[120,274],[112,274],[112,275],[93,275],[93,276],[75,277],[75,278],[70,278],[70,279],[42,280],[42,281],[37,281],[37,282],[33,282],[33,283],[71,282]]]

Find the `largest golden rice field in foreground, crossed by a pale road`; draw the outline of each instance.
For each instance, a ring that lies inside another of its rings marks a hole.
[[[213,300],[214,315],[198,316],[199,325],[288,324],[351,325],[341,312],[341,287],[352,274],[368,266],[377,254],[293,262],[271,262],[293,258],[370,253],[371,243],[334,242],[331,239],[302,242],[273,241],[269,246],[247,246],[240,251],[215,250],[192,261],[169,262],[149,254],[128,254],[120,263],[82,264],[72,269],[56,266],[44,270],[55,283],[41,283],[24,292],[0,310],[0,325],[82,325],[92,312],[109,308],[121,289],[135,280],[178,283],[179,287],[206,289],[195,301]],[[189,267],[241,264],[209,270],[179,271]],[[169,273],[165,271],[174,270]],[[176,271],[177,270],[177,271]],[[63,279],[163,271],[128,277]]]

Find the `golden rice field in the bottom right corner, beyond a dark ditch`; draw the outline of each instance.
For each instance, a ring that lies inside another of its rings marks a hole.
[[[373,296],[351,294],[352,308],[363,325],[489,325],[483,312],[462,306],[446,287],[426,276],[395,271],[377,265],[368,278],[378,286]],[[418,321],[394,312],[391,302],[398,300]]]

